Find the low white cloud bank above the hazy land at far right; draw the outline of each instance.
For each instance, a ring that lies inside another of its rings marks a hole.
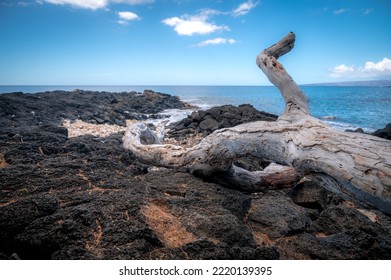
[[[354,67],[341,64],[330,73],[333,78],[385,78],[391,77],[391,59],[385,57],[379,62],[367,61],[364,66]]]

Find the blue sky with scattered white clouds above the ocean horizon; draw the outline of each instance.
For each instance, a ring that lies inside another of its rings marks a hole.
[[[0,0],[0,85],[268,85],[391,78],[389,0]]]

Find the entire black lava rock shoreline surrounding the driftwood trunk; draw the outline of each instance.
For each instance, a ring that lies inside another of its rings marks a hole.
[[[126,122],[186,108],[152,91],[1,94],[0,259],[391,258],[391,218],[311,178],[246,193],[147,166],[122,148]],[[190,145],[276,117],[215,107],[170,125],[167,137]]]

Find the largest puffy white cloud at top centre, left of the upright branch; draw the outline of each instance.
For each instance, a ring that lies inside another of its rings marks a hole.
[[[174,28],[179,35],[192,36],[194,34],[210,34],[220,30],[229,30],[228,26],[216,25],[208,22],[210,11],[202,11],[199,15],[172,17],[164,19],[162,22]]]

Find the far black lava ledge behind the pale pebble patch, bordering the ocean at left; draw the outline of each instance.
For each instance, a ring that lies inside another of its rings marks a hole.
[[[145,90],[138,92],[95,92],[75,90],[35,94],[2,94],[0,116],[3,126],[59,125],[63,119],[90,123],[125,125],[126,119],[146,119],[165,109],[182,109],[187,104],[176,96]]]

